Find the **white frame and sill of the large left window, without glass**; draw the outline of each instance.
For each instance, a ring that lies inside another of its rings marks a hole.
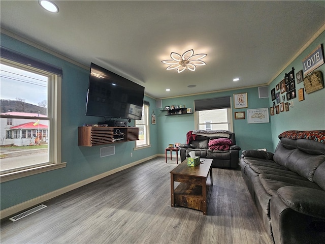
[[[61,162],[61,76],[36,69],[34,67],[26,66],[13,62],[11,60],[0,58],[0,63],[15,67],[17,69],[37,73],[43,76],[47,76],[48,79],[48,119],[50,123],[49,129],[49,162],[43,165],[30,166],[29,168],[18,169],[12,172],[5,172],[0,175],[0,182],[5,182],[29,175],[39,174],[54,169],[66,167],[66,162]],[[18,118],[17,116],[6,115],[2,117]],[[19,117],[19,118],[31,118],[35,117]],[[41,119],[41,117],[40,117]]]

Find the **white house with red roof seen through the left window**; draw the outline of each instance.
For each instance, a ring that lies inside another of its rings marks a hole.
[[[5,138],[1,138],[1,145],[27,146],[48,140],[48,120],[40,120],[46,115],[25,112],[5,112],[1,115],[15,115],[22,118],[1,118],[0,130]],[[23,118],[29,117],[29,118]],[[35,119],[30,119],[35,117]],[[42,124],[41,124],[42,123]]]

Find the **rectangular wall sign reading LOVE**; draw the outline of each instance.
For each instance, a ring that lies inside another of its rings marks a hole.
[[[303,59],[304,75],[309,74],[324,64],[323,45],[319,44],[307,57]]]

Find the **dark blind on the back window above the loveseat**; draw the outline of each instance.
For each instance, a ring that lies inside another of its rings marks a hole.
[[[231,107],[231,97],[194,100],[194,111],[221,109]]]

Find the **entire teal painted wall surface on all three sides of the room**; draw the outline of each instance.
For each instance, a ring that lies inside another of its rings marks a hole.
[[[325,34],[322,33],[285,71],[283,71],[270,85],[271,90],[284,78],[284,73],[295,67],[296,71],[302,69],[302,59],[317,45],[323,43]],[[164,154],[165,147],[170,143],[185,142],[185,135],[194,129],[194,115],[165,116],[156,108],[155,100],[145,97],[150,102],[150,114],[156,114],[156,125],[150,124],[151,147],[134,151],[135,142],[125,142],[115,145],[116,154],[100,158],[100,146],[82,147],[77,145],[78,126],[84,123],[98,123],[102,118],[85,116],[86,91],[89,71],[73,65],[56,56],[29,46],[4,34],[1,34],[1,45],[25,55],[43,60],[46,63],[61,67],[62,79],[62,114],[61,114],[61,153],[62,162],[67,167],[49,172],[31,175],[1,184],[1,209],[17,205],[24,201],[34,199],[52,191],[67,187],[81,180],[110,171],[135,161]],[[325,73],[325,65],[318,68]],[[261,83],[264,81],[261,80]],[[303,83],[297,84],[298,89]],[[196,99],[231,96],[233,94],[247,93],[248,109],[271,107],[271,98],[259,99],[258,88],[238,89],[227,92],[218,92],[205,95],[185,96],[179,98],[163,99],[163,108],[171,105],[186,105],[193,108]],[[267,148],[274,151],[279,139],[277,136],[285,130],[316,130],[325,129],[325,89],[311,94],[305,94],[305,100],[294,99],[294,107],[289,112],[281,112],[270,116],[270,123],[247,124],[247,119],[234,119],[234,132],[237,144],[244,149]],[[233,109],[245,111],[244,109]],[[247,117],[247,116],[246,116]],[[133,157],[130,157],[130,153]]]

